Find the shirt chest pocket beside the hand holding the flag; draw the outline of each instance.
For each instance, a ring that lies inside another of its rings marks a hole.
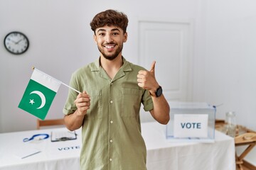
[[[90,95],[90,109],[87,111],[87,119],[102,118],[102,91],[88,92]]]

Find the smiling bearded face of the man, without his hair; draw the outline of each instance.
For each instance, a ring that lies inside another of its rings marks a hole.
[[[100,53],[107,60],[122,56],[123,43],[127,41],[127,33],[116,26],[97,28],[94,35]]]

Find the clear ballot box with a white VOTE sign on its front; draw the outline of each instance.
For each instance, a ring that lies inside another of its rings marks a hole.
[[[171,141],[214,142],[215,106],[208,103],[169,102],[166,138]]]

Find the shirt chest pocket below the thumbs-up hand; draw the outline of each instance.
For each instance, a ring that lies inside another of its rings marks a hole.
[[[142,90],[122,88],[122,117],[135,117],[139,114]]]

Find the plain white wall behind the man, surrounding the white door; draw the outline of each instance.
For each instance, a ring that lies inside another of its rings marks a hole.
[[[129,16],[124,57],[134,63],[138,62],[139,18],[195,21],[193,101],[223,103],[217,118],[236,111],[239,124],[256,130],[254,0],[1,0],[0,132],[36,128],[36,118],[18,109],[32,66],[68,83],[75,69],[99,56],[89,23],[107,8]],[[30,40],[24,55],[11,55],[4,49],[4,36],[13,30]],[[63,116],[67,93],[61,86],[47,118]]]

